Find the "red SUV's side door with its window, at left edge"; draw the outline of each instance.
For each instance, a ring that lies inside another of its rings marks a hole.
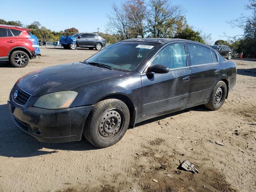
[[[17,41],[10,29],[0,27],[0,60],[8,60],[8,53],[15,46]]]

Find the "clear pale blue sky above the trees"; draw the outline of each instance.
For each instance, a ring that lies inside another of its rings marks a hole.
[[[146,0],[147,2],[148,0]],[[26,2],[26,3],[25,3]],[[124,0],[0,0],[0,19],[20,20],[24,24],[38,21],[46,28],[60,31],[75,27],[80,32],[105,32],[113,2]],[[242,34],[241,29],[231,28],[228,20],[238,18],[241,13],[248,14],[244,5],[248,0],[172,0],[182,5],[188,24],[212,34],[218,40],[226,32],[229,36]],[[225,38],[221,38],[225,39]]]

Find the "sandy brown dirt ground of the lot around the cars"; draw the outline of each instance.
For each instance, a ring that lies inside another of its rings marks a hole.
[[[84,138],[40,143],[12,122],[6,101],[20,76],[84,60],[96,50],[41,52],[25,68],[0,64],[0,192],[256,191],[256,125],[250,124],[256,122],[256,61],[233,60],[237,83],[219,110],[197,106],[154,118],[98,149]],[[199,173],[178,169],[184,160]]]

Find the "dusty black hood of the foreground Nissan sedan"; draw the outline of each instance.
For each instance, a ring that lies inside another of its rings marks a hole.
[[[84,63],[70,63],[37,70],[21,77],[17,84],[32,96],[74,90],[80,86],[121,76],[125,72],[109,70]]]

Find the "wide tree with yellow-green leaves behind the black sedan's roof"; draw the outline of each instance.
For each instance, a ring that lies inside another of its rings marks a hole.
[[[150,0],[147,14],[149,37],[172,37],[172,30],[183,14],[183,7],[172,5],[169,0]]]

